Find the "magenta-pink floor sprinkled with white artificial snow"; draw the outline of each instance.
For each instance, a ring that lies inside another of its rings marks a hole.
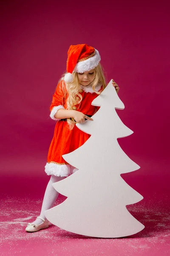
[[[3,177],[4,182],[1,186],[3,194],[0,201],[1,256],[170,255],[170,211],[167,193],[162,194],[151,187],[149,196],[144,195],[144,200],[127,207],[131,214],[145,225],[144,230],[133,236],[95,239],[67,232],[52,224],[46,230],[26,233],[27,223],[34,220],[40,212],[43,190],[48,178],[39,179],[41,181],[39,183],[35,180],[35,177],[27,179],[11,177],[10,180]],[[8,186],[13,191],[13,193],[10,191],[10,195]],[[64,198],[60,195],[57,203],[62,200]]]

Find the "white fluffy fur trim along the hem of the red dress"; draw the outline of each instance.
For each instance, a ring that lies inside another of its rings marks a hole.
[[[46,163],[45,165],[45,172],[47,175],[68,177],[68,175],[77,172],[77,170],[77,168],[70,164]]]

